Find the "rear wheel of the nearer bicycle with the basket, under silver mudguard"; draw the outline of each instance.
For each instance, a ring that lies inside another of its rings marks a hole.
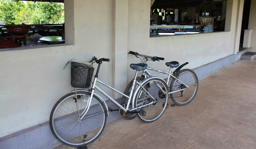
[[[168,104],[168,85],[159,78],[152,77],[141,84],[136,93],[134,107],[137,117],[145,123],[156,121]]]

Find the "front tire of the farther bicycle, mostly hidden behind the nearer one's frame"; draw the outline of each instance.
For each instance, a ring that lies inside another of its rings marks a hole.
[[[137,81],[143,81],[144,78],[143,78],[143,77],[137,77],[136,80],[137,80]],[[126,88],[125,88],[125,90],[124,90],[124,94],[125,94],[125,95],[130,95],[130,90],[131,90],[131,88],[132,88],[132,83],[133,83],[133,80],[131,80],[131,81],[127,84],[127,86],[126,86]],[[136,87],[134,87],[134,89],[136,89]],[[122,99],[121,99],[121,105],[126,104],[127,101],[128,101],[128,98],[126,98],[125,96],[123,96]],[[132,102],[130,103],[130,105],[131,105],[131,104],[132,104]],[[130,106],[130,107],[131,107],[131,106]],[[134,119],[135,117],[136,117],[136,114],[135,114],[135,113],[126,114],[126,115],[124,116],[124,118],[127,119],[127,120]]]

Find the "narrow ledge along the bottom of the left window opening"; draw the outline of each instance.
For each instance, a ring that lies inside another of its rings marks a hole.
[[[55,44],[55,45],[38,45],[38,46],[27,46],[27,47],[17,47],[17,48],[4,48],[4,49],[0,49],[0,52],[26,50],[26,49],[37,49],[37,48],[59,47],[59,46],[70,46],[70,45],[73,45],[73,44]]]

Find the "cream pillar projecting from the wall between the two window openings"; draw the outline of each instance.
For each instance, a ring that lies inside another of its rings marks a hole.
[[[112,5],[112,85],[123,92],[127,85],[128,0],[113,0]],[[114,91],[112,95],[121,97]]]

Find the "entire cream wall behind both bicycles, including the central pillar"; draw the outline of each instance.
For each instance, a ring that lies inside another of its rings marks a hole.
[[[228,2],[228,8],[232,8],[227,11],[227,17],[231,18],[226,23],[231,24],[229,32],[167,37],[149,37],[151,0],[124,1],[74,0],[74,7],[72,4],[65,6],[74,10],[73,14],[67,14],[68,10],[65,12],[65,16],[69,17],[65,20],[71,26],[68,28],[65,23],[66,36],[70,35],[67,39],[74,45],[0,51],[0,137],[48,121],[54,103],[73,89],[70,87],[69,67],[62,70],[71,58],[85,63],[94,55],[110,58],[111,62],[102,65],[99,78],[121,87],[122,91],[127,82],[120,79],[123,75],[118,70],[127,66],[127,80],[130,81],[135,71],[129,64],[139,62],[132,55],[117,58],[129,50],[164,57],[165,61],[149,63],[163,70],[168,70],[164,65],[167,61],[176,60],[180,64],[188,61],[190,64],[186,68],[195,68],[235,52],[237,13],[234,10],[238,8],[238,0]],[[112,11],[113,4],[115,10],[125,10],[124,18]],[[128,23],[125,25],[123,21]],[[127,38],[114,32],[120,32],[122,25],[127,28],[123,32]],[[122,43],[127,46],[122,46]],[[121,48],[120,51],[118,48]],[[113,76],[116,77],[114,81]]]

